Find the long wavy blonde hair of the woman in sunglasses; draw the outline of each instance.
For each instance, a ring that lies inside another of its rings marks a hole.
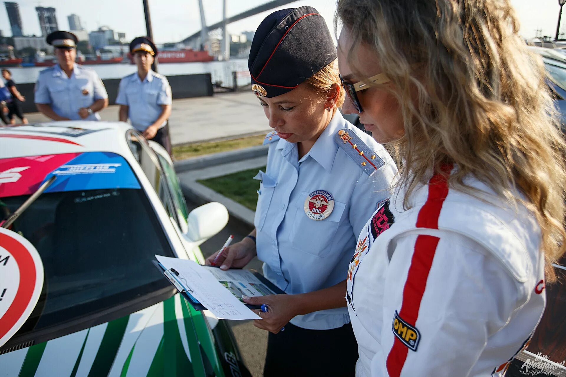
[[[535,214],[546,279],[556,280],[551,263],[566,246],[565,144],[542,60],[518,36],[509,0],[339,0],[336,20],[354,41],[350,66],[363,44],[392,81],[381,88],[404,117],[396,144],[405,206],[431,172],[457,164],[451,187],[474,194],[464,183],[474,176]]]

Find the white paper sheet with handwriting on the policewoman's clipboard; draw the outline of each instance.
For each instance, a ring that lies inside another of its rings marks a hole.
[[[177,279],[192,297],[219,319],[261,319],[222,285],[208,268],[188,259],[155,256],[166,270],[178,272]]]

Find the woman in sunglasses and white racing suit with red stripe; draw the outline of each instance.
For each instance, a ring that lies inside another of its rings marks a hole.
[[[337,14],[344,111],[404,162],[350,263],[357,375],[503,376],[566,245],[542,62],[508,1],[340,0]]]

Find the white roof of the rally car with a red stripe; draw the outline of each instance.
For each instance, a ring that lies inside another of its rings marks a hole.
[[[124,122],[76,120],[0,127],[0,159],[89,151],[127,156],[130,129]]]

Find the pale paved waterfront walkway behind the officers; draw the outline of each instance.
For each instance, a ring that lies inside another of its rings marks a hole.
[[[100,112],[102,120],[118,120],[118,105]],[[26,114],[30,123],[48,122],[40,112]],[[173,145],[228,140],[271,131],[258,99],[251,92],[173,100],[169,132]]]

